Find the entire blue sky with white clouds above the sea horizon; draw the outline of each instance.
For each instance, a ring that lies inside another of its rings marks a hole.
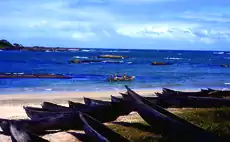
[[[230,50],[230,0],[1,0],[0,39],[25,46]]]

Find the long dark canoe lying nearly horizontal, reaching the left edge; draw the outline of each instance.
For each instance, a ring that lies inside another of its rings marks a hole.
[[[9,124],[16,123],[18,126],[35,134],[49,134],[60,130],[79,130],[82,123],[78,113],[62,113],[40,119],[8,120],[0,119],[0,126],[5,135],[10,135]]]

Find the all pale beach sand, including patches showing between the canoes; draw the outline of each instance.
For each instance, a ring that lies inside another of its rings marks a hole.
[[[144,96],[153,96],[154,92],[161,92],[160,90],[135,90],[137,93]],[[42,94],[1,94],[0,96],[0,118],[7,119],[28,119],[23,106],[37,106],[43,101],[54,102],[56,104],[67,106],[67,101],[83,102],[83,97],[95,98],[100,100],[110,100],[110,96],[121,96],[117,91],[103,91],[103,92],[60,92],[60,93],[42,93]],[[132,113],[129,116],[122,116],[117,121],[138,121],[140,117],[137,113]],[[83,132],[81,132],[83,133]],[[68,132],[59,132],[43,136],[43,138],[51,142],[76,142],[73,135]],[[8,136],[0,135],[0,141],[11,142]]]

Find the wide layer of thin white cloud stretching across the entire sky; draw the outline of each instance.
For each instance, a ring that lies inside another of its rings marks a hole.
[[[14,4],[15,1],[13,0],[9,1],[9,3],[0,1],[2,19],[0,27],[3,27],[0,31],[1,33],[3,33],[3,30],[5,33],[13,33],[14,36],[20,38],[57,37],[89,41],[102,39],[100,36],[117,36],[114,34],[117,33],[121,36],[134,38],[134,40],[135,38],[170,39],[206,44],[230,39],[228,25],[210,24],[211,22],[230,22],[230,17],[224,17],[223,14],[218,12],[185,12],[178,14],[172,12],[171,14],[164,13],[161,15],[159,13],[153,14],[149,10],[150,13],[143,12],[135,15],[122,12],[119,7],[114,10],[98,6],[103,2],[119,2],[119,4],[153,3],[154,5],[157,2],[178,0],[90,0],[97,6],[79,6],[80,0],[75,1],[74,6],[71,5],[70,0],[41,0],[35,2],[27,0],[23,3],[23,7]],[[86,3],[89,3],[89,1]],[[8,9],[4,8],[7,6]],[[144,20],[139,19],[142,17],[144,17]],[[186,23],[185,21],[189,22]],[[207,24],[207,22],[210,23]]]

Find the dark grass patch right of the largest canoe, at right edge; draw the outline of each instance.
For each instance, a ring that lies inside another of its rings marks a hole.
[[[205,130],[230,139],[230,108],[194,109],[178,115]]]

